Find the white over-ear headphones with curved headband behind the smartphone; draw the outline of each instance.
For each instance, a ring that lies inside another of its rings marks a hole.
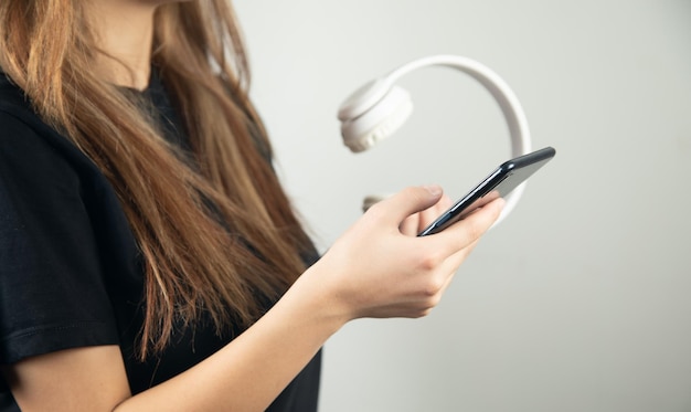
[[[495,97],[507,119],[512,157],[528,154],[531,150],[530,130],[525,114],[509,85],[489,67],[474,60],[446,54],[406,63],[383,77],[369,82],[350,95],[338,110],[338,118],[341,120],[341,135],[346,146],[353,152],[364,151],[403,126],[413,112],[413,102],[410,93],[395,85],[395,82],[416,68],[434,65],[459,70],[480,82]],[[506,197],[507,204],[497,223],[511,213],[524,188],[525,183],[522,183]],[[368,197],[363,209],[366,210],[383,198],[382,196]]]

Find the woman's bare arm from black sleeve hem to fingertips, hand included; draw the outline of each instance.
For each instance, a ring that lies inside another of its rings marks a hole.
[[[408,189],[375,204],[254,326],[152,389],[130,397],[120,348],[111,345],[4,367],[12,394],[24,411],[263,411],[347,321],[419,317],[436,306],[502,204],[432,236],[400,232],[439,196]]]

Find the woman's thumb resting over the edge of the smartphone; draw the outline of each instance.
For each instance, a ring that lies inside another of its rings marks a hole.
[[[444,191],[437,184],[408,187],[389,199],[373,205],[370,210],[385,209],[382,219],[398,225],[405,218],[423,211],[442,199]],[[375,212],[376,213],[376,212]]]

